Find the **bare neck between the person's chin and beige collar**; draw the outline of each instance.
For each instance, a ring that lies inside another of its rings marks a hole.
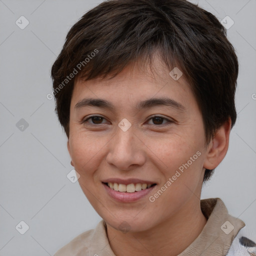
[[[123,233],[107,224],[110,247],[116,256],[175,256],[187,248],[200,234],[206,218],[193,203],[146,231]]]

